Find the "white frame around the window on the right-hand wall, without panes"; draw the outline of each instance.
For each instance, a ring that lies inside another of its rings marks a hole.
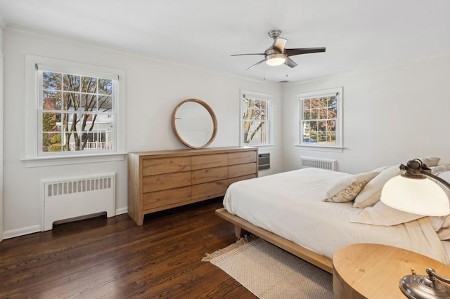
[[[300,93],[297,95],[297,147],[300,150],[321,150],[328,152],[342,152],[344,149],[344,138],[342,134],[342,102],[343,102],[343,88],[328,88],[320,91],[311,91],[307,93]],[[337,117],[336,117],[336,142],[331,144],[309,143],[303,141],[303,100],[309,98],[317,98],[320,96],[337,95]]]

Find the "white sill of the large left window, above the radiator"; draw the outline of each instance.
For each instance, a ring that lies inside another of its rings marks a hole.
[[[127,155],[126,153],[112,153],[112,154],[95,154],[95,155],[93,154],[89,156],[79,155],[66,157],[34,157],[34,158],[20,159],[20,161],[25,162],[26,168],[32,168],[32,167],[123,161],[126,155]]]

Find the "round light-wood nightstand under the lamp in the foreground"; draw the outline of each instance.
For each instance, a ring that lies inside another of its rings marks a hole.
[[[432,267],[450,277],[450,267],[425,255],[380,244],[352,244],[333,256],[333,293],[336,299],[406,298],[399,288],[401,277],[426,274]]]

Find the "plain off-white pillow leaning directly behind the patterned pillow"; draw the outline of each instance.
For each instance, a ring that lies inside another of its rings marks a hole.
[[[354,199],[354,208],[366,208],[367,206],[373,206],[380,201],[381,190],[385,183],[394,178],[394,176],[401,173],[400,166],[390,166],[384,171],[381,171],[373,180],[368,182],[363,190]]]

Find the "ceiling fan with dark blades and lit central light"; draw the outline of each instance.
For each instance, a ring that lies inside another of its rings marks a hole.
[[[288,67],[296,67],[297,63],[294,60],[290,59],[290,56],[300,55],[300,54],[308,54],[308,53],[319,53],[325,52],[325,47],[323,48],[285,48],[286,39],[280,37],[281,30],[274,29],[267,32],[269,36],[274,39],[274,44],[264,51],[264,53],[250,53],[250,54],[233,54],[231,56],[240,56],[240,55],[264,55],[264,59],[256,62],[255,65],[252,65],[247,70],[256,67],[262,62],[266,62],[268,65],[276,66],[286,64]]]

